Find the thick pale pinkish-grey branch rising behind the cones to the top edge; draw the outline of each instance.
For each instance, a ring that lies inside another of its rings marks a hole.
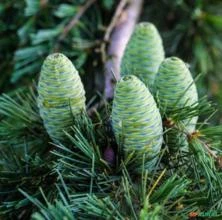
[[[139,18],[143,0],[131,0],[125,7],[126,1],[122,0],[117,7],[114,18],[105,34],[109,41],[107,50],[108,60],[105,62],[105,98],[110,99],[114,93],[114,76],[120,78],[120,63],[126,44],[134,30]],[[112,32],[112,33],[111,33]]]

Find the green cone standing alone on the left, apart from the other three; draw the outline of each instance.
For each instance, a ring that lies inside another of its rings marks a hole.
[[[64,138],[73,116],[85,110],[85,91],[72,62],[63,54],[49,55],[38,84],[38,107],[44,126],[54,141]]]

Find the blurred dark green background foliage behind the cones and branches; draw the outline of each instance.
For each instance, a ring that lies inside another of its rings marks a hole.
[[[98,0],[60,41],[63,28],[86,0],[1,0],[0,92],[13,93],[36,82],[43,59],[66,54],[83,79],[88,99],[103,91],[100,46],[119,1]],[[153,22],[167,56],[179,56],[198,80],[200,96],[218,105],[222,120],[222,1],[146,0],[141,21]]]

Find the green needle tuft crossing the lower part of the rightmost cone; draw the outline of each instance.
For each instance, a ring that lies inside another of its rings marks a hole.
[[[212,103],[209,103],[206,97],[200,98],[198,102],[194,102],[192,105],[172,108],[171,110],[166,109],[166,106],[161,106],[160,101],[160,111],[163,117],[163,127],[164,127],[164,139],[165,143],[169,147],[171,153],[177,152],[179,150],[187,151],[188,150],[188,141],[187,137],[195,133],[195,126],[203,126],[202,123],[193,126],[193,129],[190,130],[189,126],[187,128],[187,123],[191,121],[192,118],[205,118],[207,115],[215,114],[215,109]],[[211,118],[211,117],[209,117]],[[205,123],[208,119],[205,119]],[[184,123],[185,122],[185,123]],[[215,129],[213,128],[214,132]]]

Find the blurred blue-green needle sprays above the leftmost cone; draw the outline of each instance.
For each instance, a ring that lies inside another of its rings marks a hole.
[[[93,10],[70,32],[65,42],[59,42],[63,29],[73,15],[78,12],[78,7],[78,2],[76,4],[66,4],[65,7],[64,4],[59,4],[58,2],[57,5],[50,7],[49,2],[41,5],[39,1],[27,1],[25,9],[27,22],[19,29],[20,41],[24,41],[24,37],[27,40],[23,42],[22,47],[15,53],[16,63],[12,73],[12,82],[17,82],[24,75],[38,73],[43,61],[42,57],[46,56],[50,51],[60,50],[69,54],[77,68],[80,68],[86,62],[88,56],[86,49],[88,47],[77,47],[75,42],[79,41],[79,45],[81,45],[84,44],[82,43],[83,41],[90,42],[94,40],[94,32],[97,31],[97,27],[100,25],[100,18],[95,17],[90,20],[92,23],[89,22]],[[67,13],[68,8],[69,10],[72,9],[69,13]],[[48,14],[52,15],[50,19]],[[65,14],[65,16],[62,14]],[[89,32],[87,25],[94,26],[95,31],[90,28]],[[69,44],[72,42],[71,48],[70,46],[67,48],[66,42],[69,42]]]

